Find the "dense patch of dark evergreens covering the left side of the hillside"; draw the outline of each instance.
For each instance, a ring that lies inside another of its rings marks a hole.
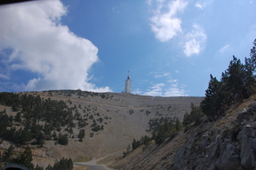
[[[63,101],[51,100],[50,97],[44,100],[27,94],[0,93],[0,102],[17,112],[14,118],[4,111],[0,113],[0,137],[13,143],[25,144],[33,139],[31,143],[42,145],[44,139],[52,139],[53,130],[60,132],[60,127],[74,127],[72,111]],[[44,122],[44,126],[39,122]],[[59,134],[59,143],[68,144],[66,138]]]

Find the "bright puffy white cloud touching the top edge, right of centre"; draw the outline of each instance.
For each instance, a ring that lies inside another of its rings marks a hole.
[[[164,0],[157,1],[155,15],[150,18],[151,29],[155,33],[156,38],[161,42],[167,42],[173,36],[182,33],[182,28],[180,27],[181,20],[176,15],[177,12],[182,12],[188,4],[182,0],[168,1],[167,4],[164,3]],[[164,8],[165,6],[167,9]]]

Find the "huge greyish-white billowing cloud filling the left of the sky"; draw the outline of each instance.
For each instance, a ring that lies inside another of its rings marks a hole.
[[[60,23],[66,7],[59,0],[9,5],[0,11],[0,51],[12,49],[9,71],[36,77],[23,90],[84,89],[110,91],[88,82],[88,70],[99,60],[98,49]]]

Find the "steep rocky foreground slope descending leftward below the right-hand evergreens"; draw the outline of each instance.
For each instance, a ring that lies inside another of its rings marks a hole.
[[[118,158],[115,169],[247,170],[256,167],[256,96],[233,105],[216,122],[201,119],[186,133]]]

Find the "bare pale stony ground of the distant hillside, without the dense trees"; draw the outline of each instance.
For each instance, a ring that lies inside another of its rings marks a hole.
[[[186,112],[190,112],[190,104],[199,104],[203,97],[146,97],[132,94],[92,93],[81,90],[51,90],[43,92],[24,92],[44,99],[64,101],[72,108],[73,115],[81,117],[88,124],[83,129],[85,136],[79,142],[78,120],[74,119],[76,128],[68,133],[61,127],[60,133],[68,135],[68,145],[56,144],[54,140],[45,140],[43,147],[32,147],[36,164],[47,166],[56,159],[72,158],[74,161],[88,161],[104,157],[112,160],[123,154],[132,139],[140,139],[147,132],[150,119],[171,117],[182,121]],[[0,105],[0,111],[5,109],[7,115],[15,117],[17,112],[12,107]],[[22,115],[21,115],[22,117]],[[24,118],[23,118],[24,119]],[[40,121],[44,125],[44,121]],[[100,130],[93,131],[92,124],[97,124]],[[19,128],[19,127],[16,127]],[[57,135],[58,135],[58,131]],[[74,137],[74,138],[73,138]],[[7,149],[12,143],[4,141],[0,149]],[[22,148],[15,147],[15,151]]]

